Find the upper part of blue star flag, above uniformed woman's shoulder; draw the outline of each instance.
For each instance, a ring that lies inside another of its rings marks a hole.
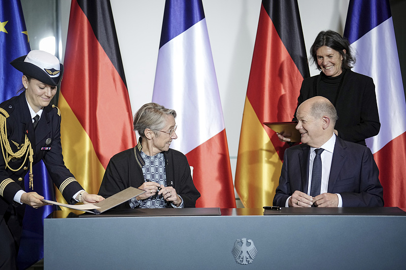
[[[10,62],[30,51],[20,0],[0,1],[0,103],[22,87],[21,72]]]

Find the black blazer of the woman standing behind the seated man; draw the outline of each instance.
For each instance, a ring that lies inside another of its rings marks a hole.
[[[320,76],[316,75],[303,80],[297,106],[318,95]],[[365,139],[377,135],[381,128],[374,81],[368,76],[351,70],[345,72],[343,80],[335,104],[339,116],[335,129],[343,140],[365,145]]]

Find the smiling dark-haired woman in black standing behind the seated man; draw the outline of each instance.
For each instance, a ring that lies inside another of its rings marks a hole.
[[[351,71],[355,57],[348,40],[337,32],[321,31],[310,53],[311,62],[317,63],[321,72],[303,80],[297,106],[314,96],[327,98],[339,117],[334,133],[366,145],[365,139],[376,136],[381,128],[373,79]],[[295,120],[296,113],[294,116]],[[289,142],[283,135],[278,134],[279,139]]]

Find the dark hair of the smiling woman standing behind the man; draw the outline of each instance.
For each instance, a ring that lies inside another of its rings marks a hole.
[[[317,64],[317,50],[323,46],[330,47],[331,49],[339,52],[343,56],[343,64],[341,68],[350,69],[355,64],[355,56],[350,48],[350,43],[347,38],[342,37],[339,33],[332,30],[321,31],[314,41],[312,47],[310,48],[310,59],[309,61],[313,64],[316,63],[317,68],[321,70],[320,66]],[[343,52],[346,50],[346,53]]]

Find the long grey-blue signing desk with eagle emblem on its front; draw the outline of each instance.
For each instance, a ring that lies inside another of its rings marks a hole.
[[[406,212],[399,208],[266,211],[269,215],[263,209],[218,208],[112,210],[101,215],[55,211],[44,219],[44,268],[400,269],[406,265]],[[232,253],[235,242],[244,238],[256,248],[248,264],[238,263]]]

